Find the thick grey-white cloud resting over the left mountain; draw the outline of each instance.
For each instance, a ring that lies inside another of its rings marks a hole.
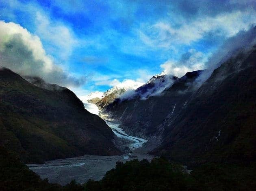
[[[13,22],[0,21],[0,65],[22,76],[39,76],[48,83],[67,87],[82,85],[86,80],[71,76],[54,64],[40,38]]]

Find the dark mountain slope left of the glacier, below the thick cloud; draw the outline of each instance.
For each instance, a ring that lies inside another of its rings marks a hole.
[[[83,154],[117,155],[116,138],[65,87],[0,69],[0,145],[25,163]],[[33,84],[35,85],[33,85]]]

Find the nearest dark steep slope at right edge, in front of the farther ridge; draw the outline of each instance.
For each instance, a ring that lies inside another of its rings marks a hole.
[[[256,47],[213,71],[172,120],[154,151],[190,164],[256,160]]]

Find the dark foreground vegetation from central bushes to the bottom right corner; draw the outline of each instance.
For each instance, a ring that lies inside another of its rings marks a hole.
[[[214,163],[191,174],[164,158],[118,162],[100,181],[89,180],[87,191],[241,191],[254,190],[254,166],[225,166]]]

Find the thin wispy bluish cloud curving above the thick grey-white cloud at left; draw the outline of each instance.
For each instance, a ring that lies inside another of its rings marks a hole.
[[[54,19],[49,8],[40,6],[36,1],[0,0],[0,4],[4,7],[0,7],[1,18],[22,24],[37,34],[55,62],[67,60],[79,45],[80,40],[68,23],[59,17]]]

